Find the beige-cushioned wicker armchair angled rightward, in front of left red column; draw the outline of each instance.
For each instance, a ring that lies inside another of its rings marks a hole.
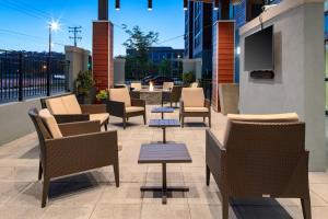
[[[147,124],[143,100],[131,99],[128,89],[110,89],[108,96],[107,111],[110,115],[122,118],[125,129],[130,117],[143,116],[143,123]]]

